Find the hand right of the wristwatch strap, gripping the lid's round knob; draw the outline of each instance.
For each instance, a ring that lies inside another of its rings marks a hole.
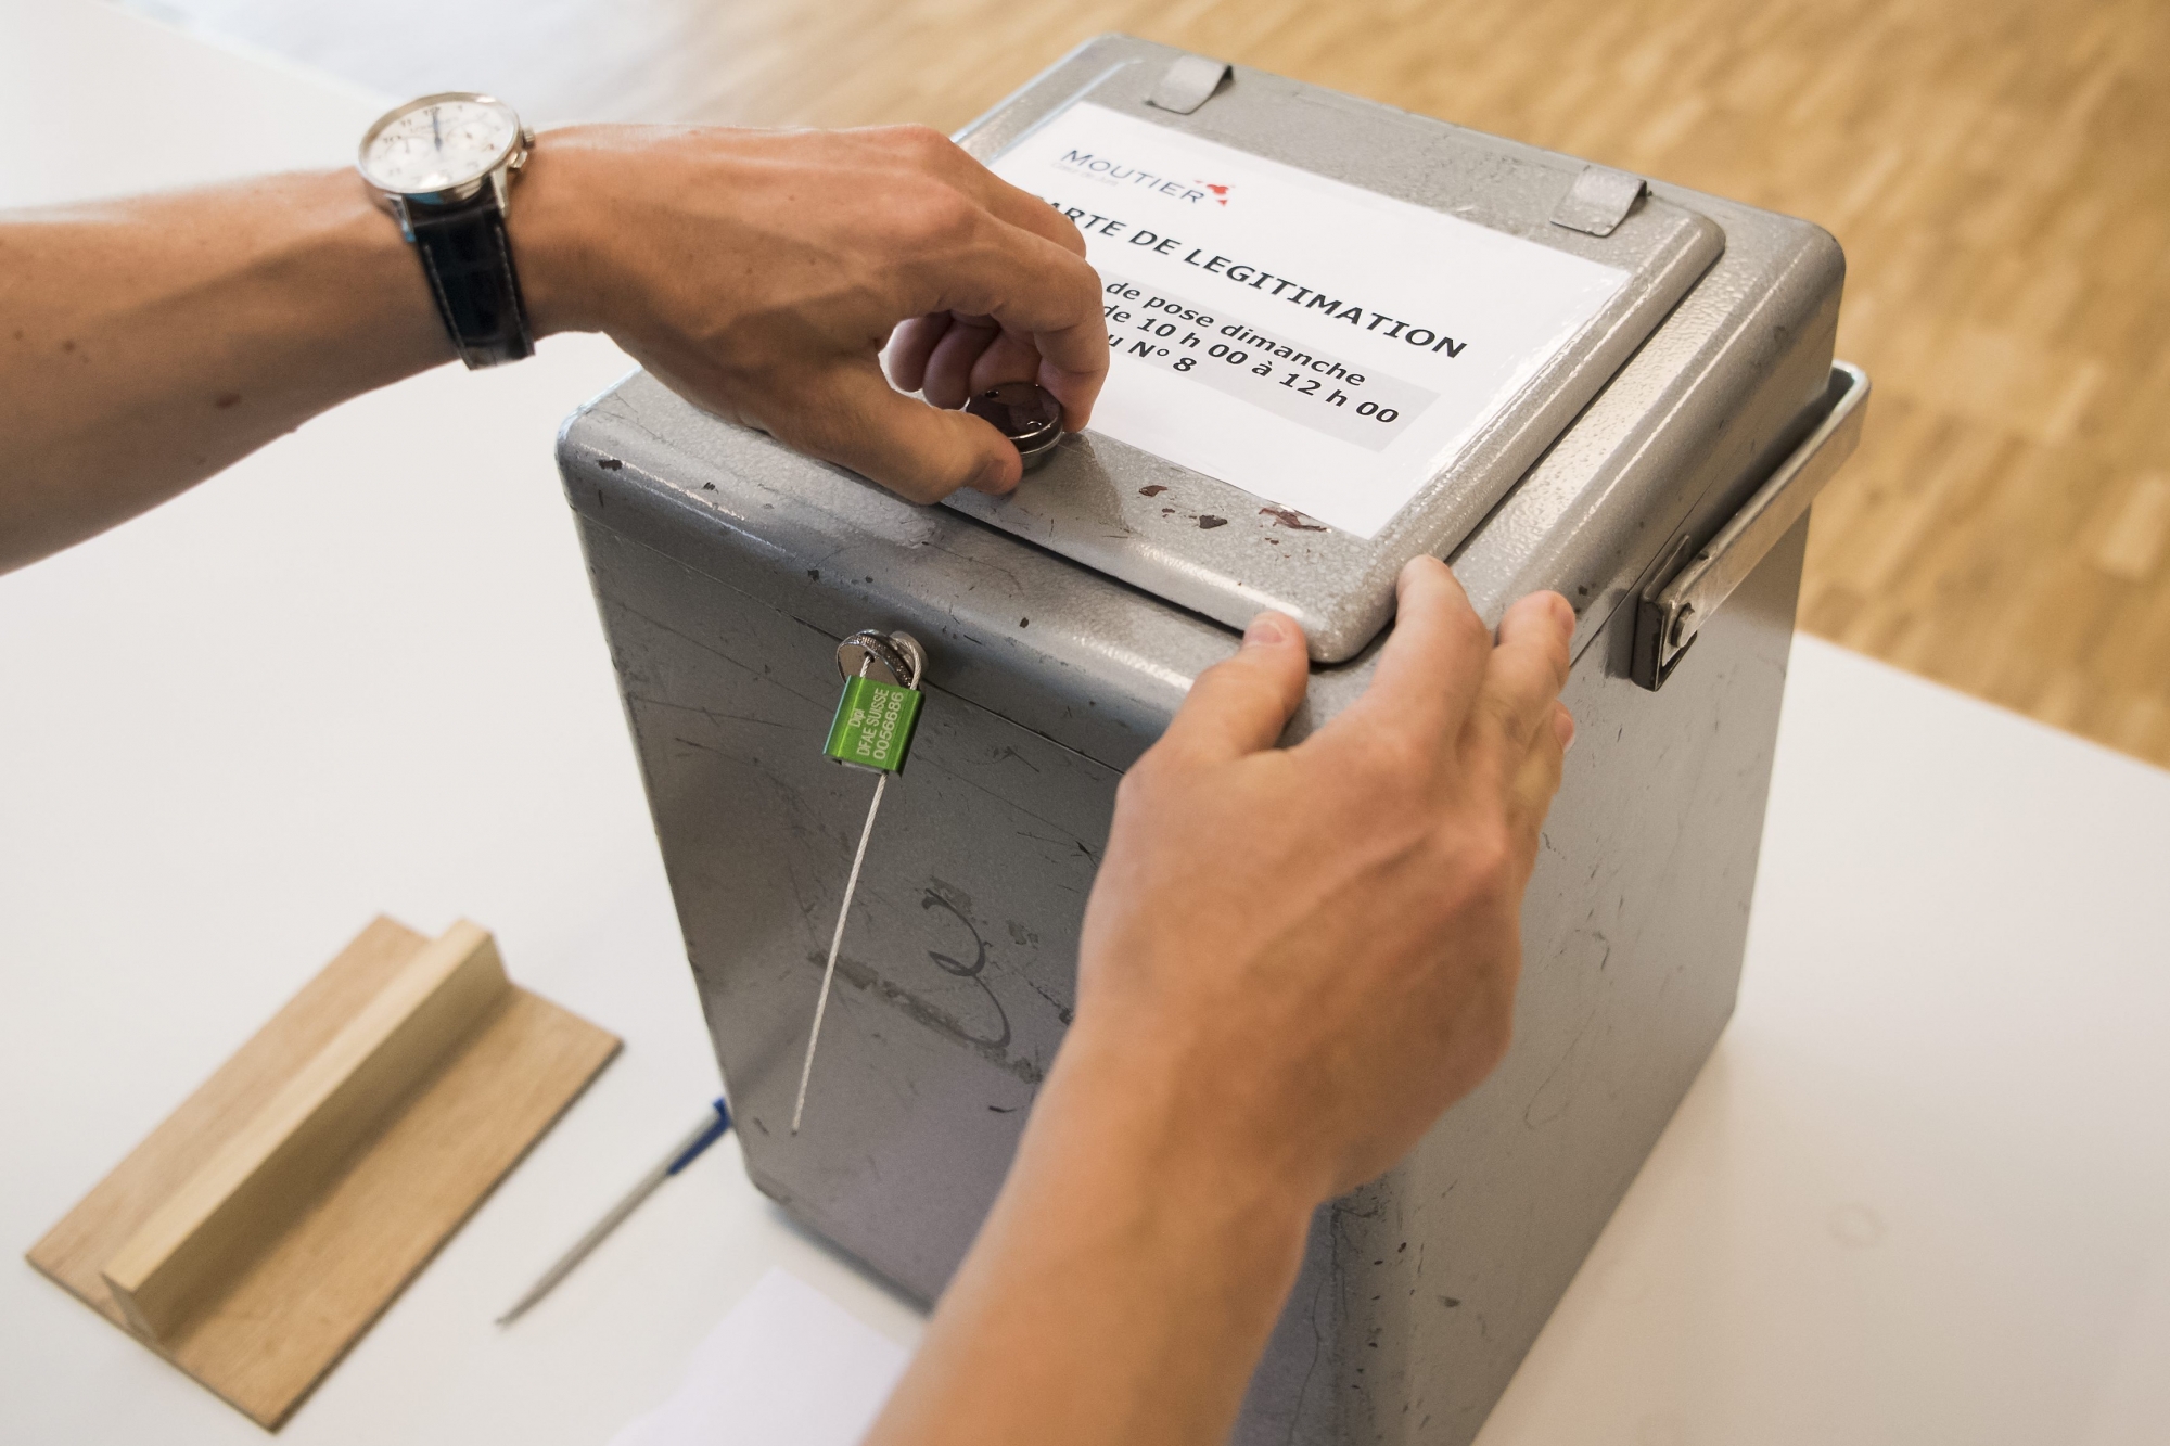
[[[1074,432],[1107,376],[1076,228],[922,126],[551,130],[510,237],[538,334],[610,332],[701,406],[914,502],[1022,471],[937,408],[1039,382]],[[898,324],[896,382],[933,406],[883,378]]]

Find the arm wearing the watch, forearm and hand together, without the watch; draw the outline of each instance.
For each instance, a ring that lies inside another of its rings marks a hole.
[[[940,406],[1031,378],[1076,430],[1107,371],[1076,228],[931,130],[553,130],[506,232],[536,339],[610,332],[703,408],[918,502],[1007,491],[1020,462],[883,378],[901,321],[929,343],[907,386]],[[0,571],[451,354],[354,172],[0,213]]]

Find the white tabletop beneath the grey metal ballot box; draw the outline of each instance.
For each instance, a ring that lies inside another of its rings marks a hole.
[[[0,0],[0,204],[341,165],[382,98]],[[0,578],[0,1246],[371,914],[467,914],[625,1055],[282,1433],[601,1444],[773,1264],[918,1316],[712,1151],[490,1318],[716,1092],[551,467],[547,343]],[[2170,1420],[2170,775],[1803,638],[1740,1012],[1482,1435],[2111,1446]],[[0,1270],[0,1437],[260,1433]]]

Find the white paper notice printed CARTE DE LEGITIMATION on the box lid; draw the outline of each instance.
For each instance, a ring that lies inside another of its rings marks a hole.
[[[1078,102],[992,163],[1105,284],[1094,430],[1376,536],[1628,274]]]

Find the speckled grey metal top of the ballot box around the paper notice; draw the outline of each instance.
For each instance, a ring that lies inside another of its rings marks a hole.
[[[1176,104],[1204,98],[1189,113],[1152,104],[1183,59],[1087,41],[963,143],[1003,167],[1089,104],[1623,274],[1371,536],[1092,428],[1009,499],[918,508],[644,373],[566,421],[573,508],[757,586],[831,638],[870,617],[909,627],[940,654],[940,686],[1124,766],[1261,608],[1304,623],[1319,662],[1291,736],[1337,712],[1417,554],[1447,558],[1486,621],[1558,588],[1582,617],[1578,654],[1625,636],[1606,621],[1712,538],[1829,410],[1844,256],[1818,226],[1241,67],[1211,89],[1191,67]],[[1628,669],[1623,656],[1612,671]]]

